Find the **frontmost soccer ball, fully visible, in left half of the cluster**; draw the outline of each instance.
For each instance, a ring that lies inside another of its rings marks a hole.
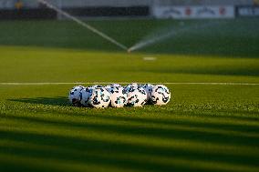
[[[105,108],[109,106],[110,95],[105,88],[94,88],[89,97],[89,104],[96,108]]]

